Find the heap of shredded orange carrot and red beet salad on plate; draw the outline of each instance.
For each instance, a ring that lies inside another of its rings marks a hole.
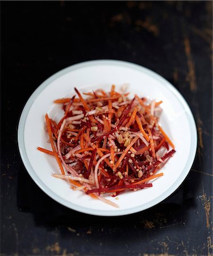
[[[148,181],[163,175],[156,172],[176,152],[158,124],[162,101],[149,102],[137,95],[130,100],[114,85],[109,93],[83,93],[86,98],[75,91],[78,97],[55,100],[64,111],[59,123],[45,115],[52,151],[38,150],[55,156],[61,174],[54,177],[118,207],[102,195],[152,187]]]

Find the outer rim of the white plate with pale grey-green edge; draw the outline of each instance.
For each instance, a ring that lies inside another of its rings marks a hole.
[[[141,71],[143,73],[146,73],[147,75],[153,77],[157,81],[162,82],[162,85],[166,86],[167,89],[170,90],[176,96],[178,101],[183,105],[184,109],[186,110],[186,117],[187,121],[189,122],[190,126],[190,133],[191,133],[191,145],[190,145],[190,154],[187,158],[187,162],[185,164],[185,167],[183,168],[181,175],[178,177],[178,179],[175,181],[175,183],[168,188],[164,193],[162,193],[160,196],[156,197],[154,200],[139,205],[137,207],[129,208],[129,209],[118,209],[118,210],[97,210],[97,209],[91,209],[82,207],[80,205],[74,204],[69,202],[68,200],[63,199],[61,196],[57,195],[57,193],[53,192],[51,189],[45,185],[45,183],[40,179],[40,177],[36,174],[34,171],[34,168],[31,166],[30,160],[28,159],[25,144],[24,144],[24,129],[25,129],[25,123],[26,118],[28,115],[28,112],[31,109],[31,106],[34,104],[34,101],[37,96],[49,85],[52,81],[55,81],[60,76],[65,75],[66,73],[72,72],[76,69],[85,68],[85,67],[91,67],[94,65],[118,65],[119,67],[127,67],[131,69],[136,69],[137,71]],[[64,69],[61,69],[60,71],[56,72],[52,76],[50,76],[48,79],[46,79],[44,82],[42,82],[35,91],[31,94],[31,96],[28,98],[26,104],[24,105],[24,108],[22,110],[22,114],[19,118],[18,123],[18,147],[20,156],[22,158],[22,162],[24,164],[24,167],[26,168],[28,174],[31,176],[31,178],[34,180],[34,182],[40,187],[41,190],[43,190],[49,197],[51,197],[53,200],[57,201],[57,203],[60,203],[64,205],[65,207],[68,207],[73,210],[77,210],[81,213],[91,214],[95,216],[123,216],[127,214],[137,213],[141,212],[142,210],[149,209],[153,207],[154,205],[157,205],[164,201],[166,198],[171,196],[183,183],[183,181],[186,179],[187,175],[189,174],[191,170],[191,166],[193,166],[195,155],[197,152],[197,126],[195,123],[195,119],[193,116],[193,113],[191,112],[191,109],[189,105],[187,104],[185,98],[182,96],[182,94],[164,77],[161,75],[158,75],[158,73],[152,71],[151,69],[145,68],[141,65],[131,63],[128,61],[123,60],[90,60],[90,61],[84,61],[82,63],[77,63],[74,65],[70,65],[69,67],[66,67]]]

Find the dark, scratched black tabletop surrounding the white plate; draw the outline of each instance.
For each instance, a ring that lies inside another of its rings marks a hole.
[[[103,218],[62,207],[31,180],[16,128],[31,93],[69,65],[143,65],[186,98],[194,165],[163,203]],[[212,255],[212,2],[1,2],[2,255]]]

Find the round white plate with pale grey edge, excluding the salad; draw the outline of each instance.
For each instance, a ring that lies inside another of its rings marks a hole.
[[[164,176],[153,181],[152,188],[119,195],[119,200],[107,198],[119,205],[111,207],[92,199],[81,191],[73,191],[65,180],[51,174],[59,172],[53,156],[38,151],[37,146],[51,149],[45,132],[45,113],[59,119],[61,106],[53,104],[56,98],[95,88],[110,90],[127,83],[130,97],[137,93],[157,101],[162,100],[160,123],[176,146],[176,154],[162,168]],[[98,216],[119,216],[145,210],[160,203],[181,185],[190,171],[197,149],[197,129],[189,106],[168,81],[139,65],[117,60],[87,61],[65,68],[49,77],[32,94],[24,106],[18,127],[18,144],[24,166],[35,183],[62,205],[79,212]],[[30,191],[29,191],[30,193]]]

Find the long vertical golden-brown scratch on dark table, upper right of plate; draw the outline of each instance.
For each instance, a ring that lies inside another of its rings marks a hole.
[[[195,92],[197,90],[197,82],[196,82],[196,77],[195,77],[194,63],[193,63],[193,59],[191,57],[191,46],[190,46],[189,38],[187,38],[187,36],[185,36],[183,43],[185,46],[185,53],[186,53],[187,64],[188,64],[188,68],[189,68],[190,90],[192,92]]]

